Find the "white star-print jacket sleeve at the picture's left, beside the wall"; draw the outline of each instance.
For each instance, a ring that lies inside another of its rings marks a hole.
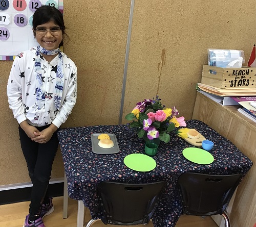
[[[20,71],[18,58],[15,58],[8,79],[7,96],[9,107],[18,123],[26,120],[22,100],[22,80],[24,80],[24,72]]]

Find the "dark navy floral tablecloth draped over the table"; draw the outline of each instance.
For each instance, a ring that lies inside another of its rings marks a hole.
[[[211,154],[215,161],[209,165],[199,165],[186,160],[182,150],[192,145],[176,135],[176,128],[169,143],[161,142],[158,154],[153,157],[157,166],[150,172],[138,172],[129,169],[123,163],[125,156],[142,153],[144,141],[139,139],[134,129],[127,125],[97,125],[61,129],[58,132],[60,149],[68,182],[68,194],[71,198],[82,200],[92,218],[99,219],[99,199],[97,185],[101,181],[126,183],[148,183],[166,181],[163,197],[152,217],[155,227],[175,226],[182,207],[177,193],[177,180],[184,172],[209,174],[245,175],[252,162],[229,140],[212,130],[199,120],[187,120],[187,128],[196,129],[206,139],[215,142]],[[112,155],[98,155],[92,152],[92,133],[113,133],[117,137],[120,152]]]

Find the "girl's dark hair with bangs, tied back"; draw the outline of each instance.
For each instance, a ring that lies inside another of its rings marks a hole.
[[[36,27],[40,24],[47,23],[49,21],[53,21],[56,23],[62,31],[62,35],[68,35],[65,33],[65,25],[64,25],[64,20],[63,20],[63,15],[61,12],[56,9],[53,6],[41,6],[33,14],[33,29],[36,29]],[[35,30],[34,30],[34,36],[35,36]],[[63,45],[63,41],[59,44],[59,46]]]

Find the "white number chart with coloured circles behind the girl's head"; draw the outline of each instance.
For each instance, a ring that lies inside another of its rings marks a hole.
[[[42,5],[63,13],[63,0],[0,0],[0,60],[13,60],[19,52],[38,45],[32,16]]]

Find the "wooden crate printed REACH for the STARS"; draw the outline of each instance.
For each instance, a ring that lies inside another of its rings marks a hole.
[[[204,65],[201,83],[218,88],[255,88],[256,68],[220,68]]]

